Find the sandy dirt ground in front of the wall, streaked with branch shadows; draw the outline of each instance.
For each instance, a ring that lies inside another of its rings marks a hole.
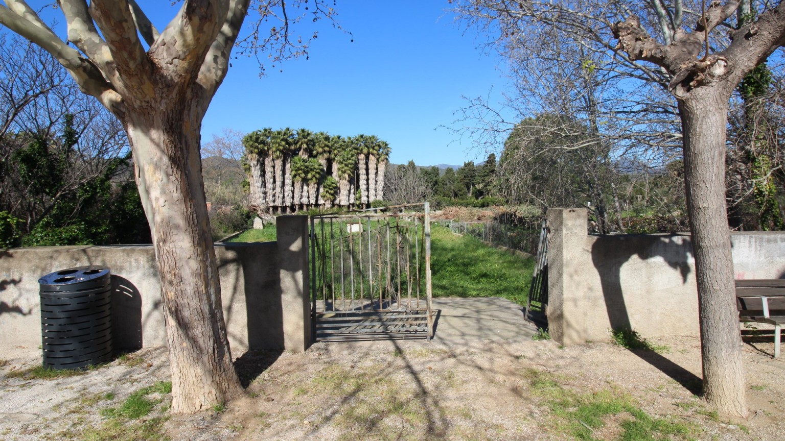
[[[517,320],[520,308],[469,300],[436,305],[442,315],[431,342],[330,342],[300,354],[244,354],[237,366],[246,396],[156,427],[177,440],[617,439],[629,421],[648,421],[657,431],[684,428],[665,439],[782,439],[785,363],[758,350],[771,352],[772,343],[745,346],[751,417],[732,424],[691,392],[699,388],[697,338],[656,340],[669,348],[662,354],[607,343],[558,348],[531,340],[535,330]],[[484,316],[494,308],[501,310]],[[5,349],[2,439],[143,439],[133,433],[165,414],[162,396],[144,421],[123,423],[131,435],[110,438],[108,423],[116,420],[100,411],[166,381],[164,350],[145,349],[77,377],[31,380],[9,372],[38,359]],[[579,414],[595,403],[623,406],[595,424]]]

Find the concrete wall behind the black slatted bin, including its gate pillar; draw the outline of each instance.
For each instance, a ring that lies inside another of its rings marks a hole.
[[[306,223],[305,216],[279,217],[277,242],[216,245],[224,318],[234,355],[249,348],[304,351],[311,343]],[[41,344],[38,278],[91,264],[111,268],[115,348],[166,345],[161,286],[150,245],[0,251],[2,344],[37,351]],[[291,282],[298,277],[299,284]]]

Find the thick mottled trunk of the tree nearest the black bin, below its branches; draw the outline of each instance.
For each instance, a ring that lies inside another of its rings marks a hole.
[[[123,122],[161,279],[172,410],[193,413],[242,387],[225,333],[201,179],[201,118],[185,110],[185,102],[133,109]]]

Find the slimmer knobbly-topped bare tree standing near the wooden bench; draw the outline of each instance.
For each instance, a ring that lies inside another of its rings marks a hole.
[[[702,7],[701,7],[702,6]],[[681,120],[687,206],[696,257],[702,339],[703,393],[721,414],[747,415],[742,342],[734,297],[725,210],[725,129],[728,100],[741,79],[785,44],[785,5],[726,0],[665,2],[458,2],[470,21],[493,27],[496,42],[527,39],[553,28],[575,44],[623,61],[624,74],[666,85]],[[701,13],[690,11],[701,10]],[[729,32],[719,32],[717,27]],[[717,30],[715,32],[715,30]],[[656,35],[656,37],[653,37]],[[515,37],[514,35],[517,35]]]

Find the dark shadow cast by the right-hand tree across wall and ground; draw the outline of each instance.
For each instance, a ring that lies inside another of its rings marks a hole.
[[[676,240],[681,238],[681,240]],[[674,268],[686,283],[689,273],[689,257],[692,242],[685,235],[601,235],[594,241],[591,249],[592,262],[600,275],[605,309],[612,330],[632,330],[630,315],[624,301],[621,282],[622,266],[637,256],[641,260],[655,257]],[[645,362],[656,367],[663,374],[673,378],[690,392],[699,393],[701,380],[692,372],[666,359],[656,352],[633,351]]]

